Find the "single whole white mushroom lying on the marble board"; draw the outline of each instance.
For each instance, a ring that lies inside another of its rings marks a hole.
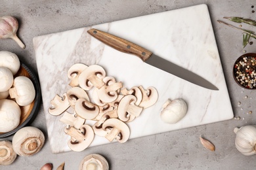
[[[161,110],[161,120],[167,124],[179,122],[185,115],[188,107],[183,99],[168,99]]]

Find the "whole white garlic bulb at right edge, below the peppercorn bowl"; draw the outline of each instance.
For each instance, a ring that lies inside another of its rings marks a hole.
[[[256,154],[256,126],[243,126],[234,129],[235,144],[239,152],[245,156]]]

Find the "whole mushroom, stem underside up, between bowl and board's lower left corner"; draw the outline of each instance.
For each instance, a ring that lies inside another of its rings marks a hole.
[[[19,156],[32,156],[39,152],[45,143],[45,135],[37,127],[19,129],[12,138],[12,147]]]

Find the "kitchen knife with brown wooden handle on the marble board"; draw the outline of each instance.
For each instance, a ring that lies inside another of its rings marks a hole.
[[[166,71],[167,73],[171,73],[172,75],[197,84],[198,86],[202,86],[203,88],[219,90],[216,86],[211,84],[211,82],[202,78],[202,76],[196,75],[195,73],[192,73],[179,65],[175,65],[166,59],[160,58],[159,56],[156,56],[156,54],[153,54],[141,46],[133,44],[133,42],[129,42],[125,39],[121,39],[120,37],[116,37],[115,35],[97,29],[89,29],[87,32],[104,44],[107,44],[108,46],[111,46],[112,48],[115,48],[121,52],[138,56],[145,63]]]

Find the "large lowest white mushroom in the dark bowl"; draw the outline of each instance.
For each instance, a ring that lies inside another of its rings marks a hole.
[[[0,132],[12,131],[20,124],[21,110],[15,101],[0,100]]]

